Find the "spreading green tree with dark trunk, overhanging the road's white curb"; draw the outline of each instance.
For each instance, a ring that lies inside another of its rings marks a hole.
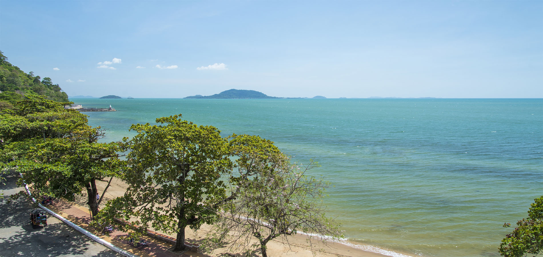
[[[93,131],[99,133],[96,128]],[[96,180],[118,176],[123,161],[118,159],[119,143],[100,144],[94,138],[85,134],[80,138],[33,138],[12,143],[6,149],[16,157],[9,167],[17,167],[23,174],[19,184],[30,184],[37,195],[73,201],[74,194],[86,190],[87,204],[96,216]]]

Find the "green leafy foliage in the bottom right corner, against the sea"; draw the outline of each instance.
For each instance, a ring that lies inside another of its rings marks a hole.
[[[536,198],[528,210],[528,217],[516,223],[500,245],[500,253],[506,257],[522,257],[527,254],[543,254],[543,196]],[[506,223],[503,227],[510,227]]]

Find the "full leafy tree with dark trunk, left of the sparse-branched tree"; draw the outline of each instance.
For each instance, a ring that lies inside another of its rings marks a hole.
[[[176,233],[173,250],[182,250],[187,226],[197,229],[215,219],[210,207],[226,197],[220,177],[232,163],[216,127],[197,126],[181,115],[156,122],[161,125],[131,126],[137,134],[127,142],[123,177],[128,189],[108,202],[100,216],[104,222],[113,217],[131,221],[130,229]]]

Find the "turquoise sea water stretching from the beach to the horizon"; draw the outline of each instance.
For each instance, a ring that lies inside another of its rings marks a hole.
[[[500,256],[502,224],[543,195],[543,99],[71,100],[118,110],[85,113],[103,142],[182,113],[313,158],[348,242],[390,255]]]

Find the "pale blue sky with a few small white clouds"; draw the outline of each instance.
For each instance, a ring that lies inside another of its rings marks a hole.
[[[542,98],[543,1],[0,1],[68,95]],[[137,68],[140,67],[140,68]]]

